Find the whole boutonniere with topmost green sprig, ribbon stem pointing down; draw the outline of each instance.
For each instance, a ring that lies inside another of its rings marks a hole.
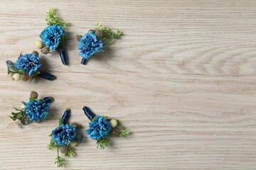
[[[64,42],[65,42],[65,28],[68,26],[66,21],[63,21],[56,14],[54,8],[50,8],[46,17],[47,25],[40,34],[41,40],[36,40],[35,46],[41,49],[44,55],[50,52],[58,52],[61,62],[66,65],[67,59],[65,56]]]

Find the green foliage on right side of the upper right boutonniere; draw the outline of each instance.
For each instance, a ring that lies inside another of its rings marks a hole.
[[[101,23],[97,23],[95,30],[102,31],[102,35],[99,39],[102,40],[103,45],[109,45],[122,36],[122,31],[117,30],[116,32],[112,32],[110,28],[103,27]]]

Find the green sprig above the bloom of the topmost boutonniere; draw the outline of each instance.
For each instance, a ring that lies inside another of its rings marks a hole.
[[[63,21],[57,16],[54,8],[50,8],[47,14],[46,21],[48,26],[61,26],[64,30],[68,26],[66,21]]]

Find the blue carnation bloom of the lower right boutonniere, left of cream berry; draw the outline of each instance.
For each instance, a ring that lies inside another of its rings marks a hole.
[[[97,116],[95,121],[89,123],[89,129],[86,130],[85,134],[92,140],[100,140],[107,137],[110,130],[110,122],[105,120],[102,116]]]

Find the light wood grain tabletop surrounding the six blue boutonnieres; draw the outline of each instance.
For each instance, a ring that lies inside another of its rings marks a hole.
[[[67,29],[69,65],[41,55],[58,79],[12,82],[6,60],[35,50],[46,11]],[[124,31],[80,64],[75,35],[100,22]],[[256,169],[256,1],[0,1],[0,169],[58,169],[46,147],[65,108],[122,121],[132,135],[96,149],[85,138],[64,169]],[[53,96],[48,120],[9,115],[30,91]]]

